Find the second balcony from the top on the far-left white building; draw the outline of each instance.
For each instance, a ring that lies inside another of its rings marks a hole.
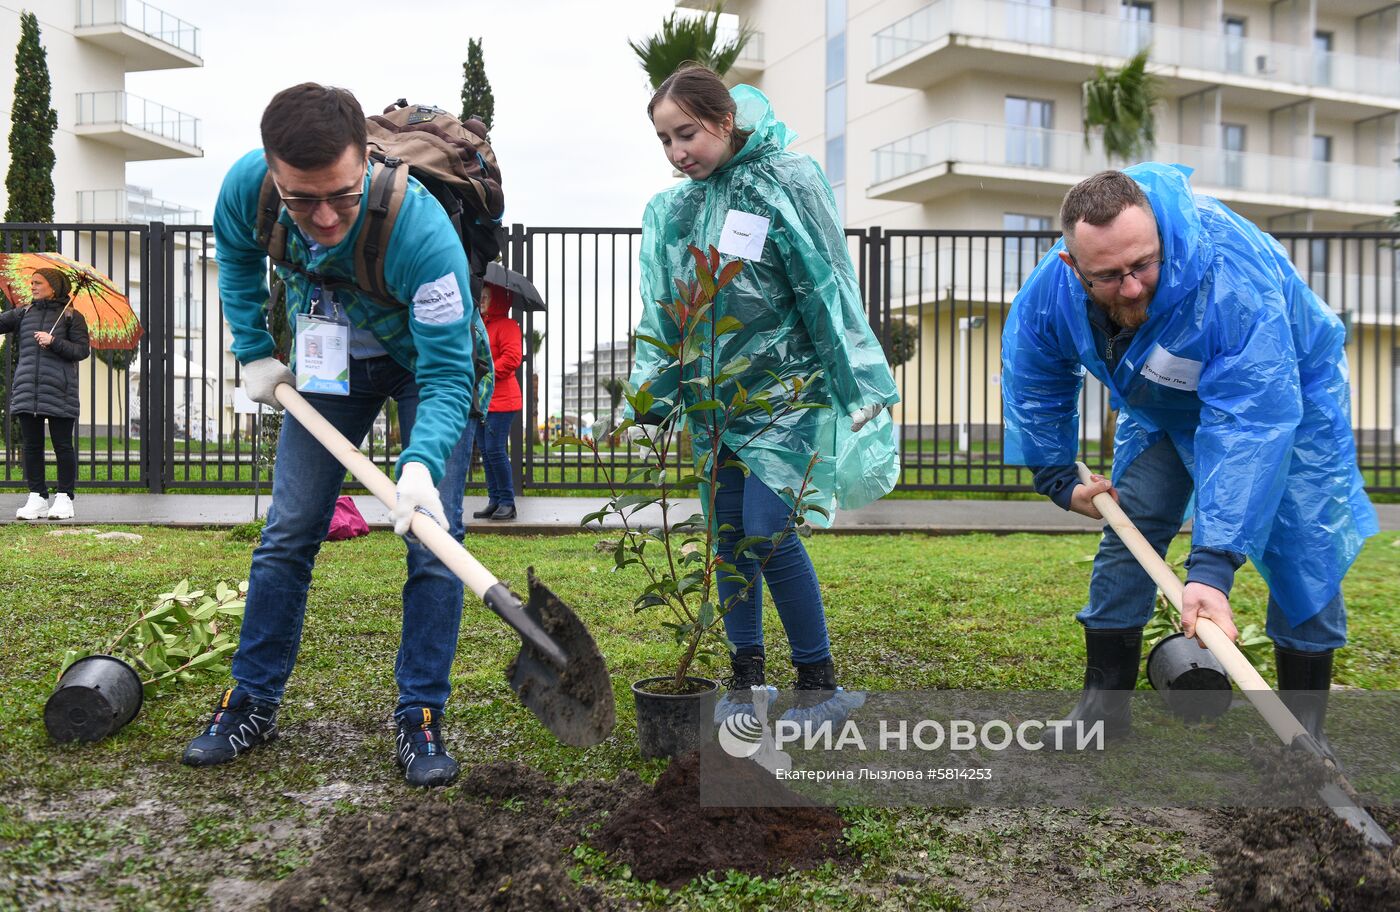
[[[199,118],[132,92],[78,92],[74,133],[116,146],[127,161],[200,158]]]

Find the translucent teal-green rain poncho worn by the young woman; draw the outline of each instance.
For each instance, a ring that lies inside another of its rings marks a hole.
[[[678,342],[679,331],[657,301],[676,294],[673,279],[694,280],[696,263],[687,247],[720,248],[729,210],[767,219],[762,254],[743,262],[715,301],[717,321],[729,315],[743,324],[739,332],[720,336],[717,364],[748,357],[749,367],[738,381],[750,391],[773,385],[767,371],[784,380],[822,371],[804,388],[802,399],[832,408],[790,412],[752,441],[769,417],[750,412],[724,433],[722,443],[776,492],[798,490],[812,454],[819,454],[809,486],[816,493],[806,502],[829,513],[836,506],[860,507],[889,493],[899,481],[899,451],[888,409],[854,434],[848,415],[867,405],[899,402],[895,378],[861,305],[832,186],[811,157],[785,151],[795,133],[773,115],[763,92],[738,85],[731,95],[738,104],[736,123],[753,130],[743,148],[708,178],[664,191],[647,206],[644,310],[637,333]],[[732,259],[722,255],[725,263]],[[706,359],[710,349],[707,342]],[[671,356],[638,339],[633,385],[650,384],[654,396],[675,401],[678,374]],[[721,385],[718,392],[717,398],[728,402],[732,387]],[[707,398],[694,384],[685,384],[683,395],[686,405]],[[697,450],[713,447],[704,417],[701,412],[689,419]],[[829,525],[818,511],[806,518]]]

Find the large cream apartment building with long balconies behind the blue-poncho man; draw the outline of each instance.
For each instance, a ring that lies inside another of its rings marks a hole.
[[[1057,230],[1070,186],[1124,164],[1085,141],[1081,85],[1141,48],[1163,90],[1152,157],[1193,167],[1198,192],[1271,231],[1383,228],[1400,199],[1390,0],[728,0],[725,13],[759,34],[731,81],[771,98],[853,228]],[[896,371],[906,427],[1000,423],[1002,317],[1046,247],[889,244],[892,307],[924,350],[921,377]],[[1313,287],[1351,301],[1354,382],[1373,406],[1358,429],[1397,433],[1396,265],[1303,247]]]

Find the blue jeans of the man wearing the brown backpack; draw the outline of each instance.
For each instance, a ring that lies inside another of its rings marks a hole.
[[[350,395],[307,394],[307,401],[336,430],[358,444],[386,398],[399,405],[405,443],[413,436],[419,387],[391,357],[350,359]],[[462,541],[462,490],[472,457],[472,430],[448,457],[438,495],[449,531]],[[234,654],[234,679],[256,700],[280,703],[297,664],[307,615],[311,567],[330,527],[344,468],[290,413],[284,413],[273,469],[272,507],[262,544],[248,573],[248,601]],[[416,539],[407,545],[409,580],[403,586],[403,628],[393,677],[396,713],[421,707],[442,712],[462,619],[462,581]],[[353,657],[347,657],[353,658]]]

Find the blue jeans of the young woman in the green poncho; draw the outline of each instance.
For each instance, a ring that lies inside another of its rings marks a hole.
[[[721,451],[721,462],[734,458],[728,450]],[[763,646],[763,584],[767,583],[792,647],[792,661],[809,664],[830,658],[832,642],[826,636],[822,590],[816,584],[816,570],[802,539],[791,531],[792,509],[757,475],[745,476],[735,467],[720,469],[718,482],[713,521],[720,527],[734,527],[720,532],[720,556],[734,563],[750,583],[743,587],[736,581],[720,580],[720,605],[729,607],[724,615],[724,632],[729,642],[736,649]],[[764,542],[749,549],[752,556],[734,556],[734,546],[741,538],[774,535],[783,530],[788,530],[788,534],[780,545]],[[760,576],[759,566],[764,559],[767,565]]]

